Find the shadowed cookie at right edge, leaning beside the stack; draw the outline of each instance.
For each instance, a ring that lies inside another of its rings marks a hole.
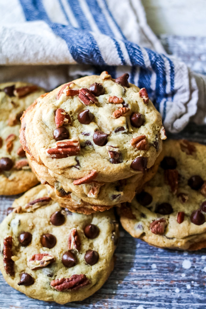
[[[120,211],[133,237],[160,247],[206,247],[206,146],[186,140],[163,144],[157,174]]]

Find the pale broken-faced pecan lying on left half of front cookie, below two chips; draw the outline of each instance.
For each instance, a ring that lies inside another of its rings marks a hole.
[[[34,270],[45,267],[52,264],[55,261],[55,257],[48,253],[36,253],[27,261],[27,266]]]

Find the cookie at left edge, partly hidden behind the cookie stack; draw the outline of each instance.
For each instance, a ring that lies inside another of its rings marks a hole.
[[[22,193],[38,183],[19,142],[23,111],[44,93],[32,84],[0,84],[0,194]]]

